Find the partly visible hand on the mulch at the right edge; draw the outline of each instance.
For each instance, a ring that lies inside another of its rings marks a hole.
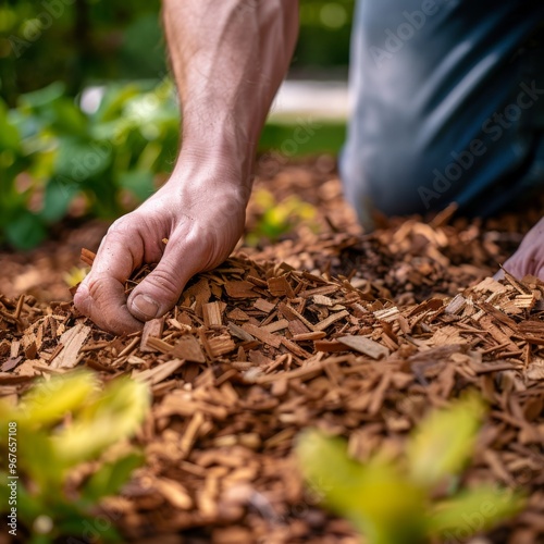
[[[544,218],[527,233],[518,250],[503,268],[518,280],[528,274],[544,280]],[[503,276],[500,270],[495,274],[495,280]]]

